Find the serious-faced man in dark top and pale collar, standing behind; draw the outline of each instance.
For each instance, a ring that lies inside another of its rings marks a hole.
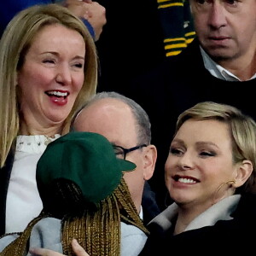
[[[162,208],[168,205],[164,166],[180,113],[198,102],[212,101],[256,118],[256,1],[190,0],[189,4],[193,42],[123,91],[151,121],[158,160],[149,183]]]

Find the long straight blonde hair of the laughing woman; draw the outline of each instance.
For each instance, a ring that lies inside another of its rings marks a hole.
[[[86,52],[84,84],[63,125],[63,134],[69,131],[73,113],[96,93],[96,46],[82,20],[58,4],[35,5],[15,15],[0,41],[0,167],[3,167],[20,129],[17,72],[38,32],[52,24],[61,24],[79,32],[84,38]]]

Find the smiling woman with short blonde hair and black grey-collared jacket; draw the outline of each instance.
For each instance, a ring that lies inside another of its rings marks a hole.
[[[140,255],[170,255],[172,245],[189,255],[199,243],[197,255],[236,255],[253,244],[255,160],[256,123],[239,109],[201,102],[184,111],[165,167],[174,203],[149,223]]]

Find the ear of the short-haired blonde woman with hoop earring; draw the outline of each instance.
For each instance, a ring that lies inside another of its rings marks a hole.
[[[237,167],[235,183],[233,187],[239,188],[243,185],[253,172],[253,164],[250,160],[243,160]]]

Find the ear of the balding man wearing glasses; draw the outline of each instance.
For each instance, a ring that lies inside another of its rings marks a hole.
[[[157,150],[154,145],[150,144],[144,148],[144,161],[143,161],[143,177],[148,180],[154,174],[155,162],[157,159]]]

